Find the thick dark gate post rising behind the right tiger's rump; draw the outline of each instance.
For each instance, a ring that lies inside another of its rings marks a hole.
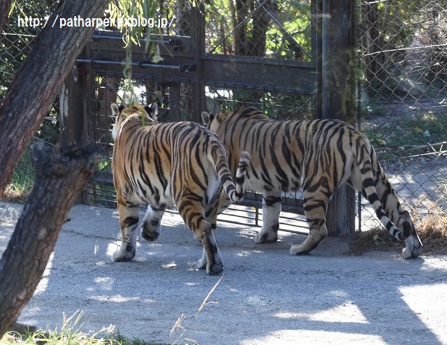
[[[322,118],[342,119],[354,124],[355,84],[351,82],[351,50],[356,1],[323,0],[321,47]],[[355,195],[349,186],[341,186],[329,203],[326,214],[329,235],[347,235],[355,231]]]

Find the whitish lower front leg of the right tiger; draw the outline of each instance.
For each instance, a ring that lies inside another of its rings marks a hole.
[[[281,194],[279,196],[263,196],[263,227],[259,233],[254,235],[254,242],[277,242],[280,213]]]

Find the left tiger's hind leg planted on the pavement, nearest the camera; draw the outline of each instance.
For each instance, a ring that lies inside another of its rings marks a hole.
[[[198,267],[207,269],[207,274],[217,274],[223,270],[223,263],[216,237],[212,225],[203,214],[203,205],[200,201],[191,198],[181,198],[177,203],[180,216],[182,216],[186,226],[190,228],[196,237],[200,238],[203,244],[203,255],[198,260]],[[217,208],[214,207],[215,211]],[[215,222],[214,222],[215,224]],[[215,225],[214,225],[215,229]]]

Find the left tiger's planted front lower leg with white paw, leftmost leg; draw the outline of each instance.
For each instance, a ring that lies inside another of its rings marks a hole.
[[[140,217],[140,207],[126,207],[118,203],[118,213],[121,226],[121,247],[112,254],[112,260],[130,261],[136,251],[136,228]]]

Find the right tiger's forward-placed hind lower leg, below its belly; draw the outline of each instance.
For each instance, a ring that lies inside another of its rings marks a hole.
[[[315,249],[318,244],[328,236],[328,228],[326,228],[326,209],[328,202],[324,200],[316,200],[309,198],[305,192],[304,196],[304,210],[309,223],[309,235],[302,244],[297,244],[291,247],[291,255],[309,254],[309,251]]]

